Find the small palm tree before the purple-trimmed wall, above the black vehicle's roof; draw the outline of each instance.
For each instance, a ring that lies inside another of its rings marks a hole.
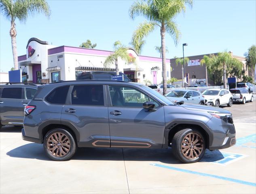
[[[106,68],[108,65],[115,64],[116,66],[116,75],[119,75],[118,69],[118,58],[121,58],[126,63],[135,63],[136,58],[131,57],[127,53],[128,48],[121,44],[120,41],[116,41],[114,43],[114,53],[111,53],[104,62],[104,67]]]

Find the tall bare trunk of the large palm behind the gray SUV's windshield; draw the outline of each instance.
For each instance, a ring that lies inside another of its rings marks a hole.
[[[161,46],[162,46],[162,71],[163,71],[163,95],[167,94],[167,72],[165,60],[165,26],[161,27]]]

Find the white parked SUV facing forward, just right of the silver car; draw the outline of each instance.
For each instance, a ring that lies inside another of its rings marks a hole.
[[[226,89],[208,89],[202,93],[206,105],[219,107],[220,105],[232,106],[233,95]]]

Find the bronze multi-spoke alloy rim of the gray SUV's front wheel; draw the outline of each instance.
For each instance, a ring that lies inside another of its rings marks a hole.
[[[198,133],[188,133],[182,140],[181,150],[189,160],[198,158],[203,151],[203,138]]]

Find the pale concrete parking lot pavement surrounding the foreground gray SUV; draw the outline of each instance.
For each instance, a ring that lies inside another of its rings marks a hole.
[[[256,103],[232,112],[237,144],[182,164],[167,150],[79,148],[56,162],[21,128],[0,133],[0,193],[256,193]]]

